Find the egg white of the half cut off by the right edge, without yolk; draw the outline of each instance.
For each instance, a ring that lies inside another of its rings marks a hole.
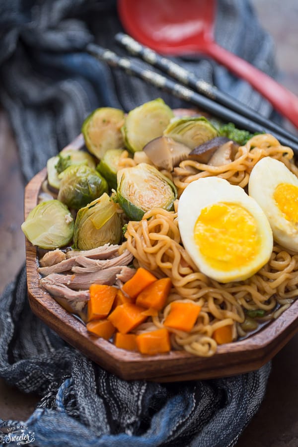
[[[286,219],[273,196],[281,183],[298,187],[298,177],[282,161],[265,157],[253,167],[248,191],[266,214],[276,242],[289,250],[298,251],[298,222]]]

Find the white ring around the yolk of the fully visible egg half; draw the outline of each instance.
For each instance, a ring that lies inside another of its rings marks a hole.
[[[254,217],[261,241],[258,255],[248,265],[239,265],[229,271],[218,270],[206,261],[194,235],[194,227],[201,211],[223,202],[239,205]],[[249,278],[268,262],[272,253],[272,230],[262,209],[242,188],[233,186],[222,178],[200,178],[185,188],[178,204],[178,225],[183,245],[198,269],[222,283]]]

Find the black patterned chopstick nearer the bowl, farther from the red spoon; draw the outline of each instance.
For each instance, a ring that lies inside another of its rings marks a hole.
[[[139,64],[134,61],[119,57],[116,53],[106,48],[102,48],[96,44],[89,43],[86,47],[88,53],[96,57],[100,61],[106,62],[109,66],[120,68],[127,74],[140,77],[146,82],[154,85],[161,90],[167,91],[180,99],[191,102],[197,107],[202,108],[206,112],[214,115],[224,121],[230,121],[240,129],[248,130],[249,132],[269,133],[279,140],[283,146],[289,146],[293,149],[298,156],[298,144],[291,141],[289,138],[285,138],[276,131],[272,131],[265,126],[260,126],[258,123],[249,120],[248,118],[227,109],[221,104],[194,92],[184,85],[173,82],[165,76],[155,73],[151,70],[143,69]]]

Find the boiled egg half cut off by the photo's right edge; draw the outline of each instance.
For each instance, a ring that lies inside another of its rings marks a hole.
[[[298,251],[297,176],[282,161],[265,157],[253,167],[248,191],[266,214],[274,239]]]

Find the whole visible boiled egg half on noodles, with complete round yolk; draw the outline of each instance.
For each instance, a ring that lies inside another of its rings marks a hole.
[[[178,225],[198,269],[222,283],[249,278],[272,253],[272,230],[261,207],[222,178],[200,178],[185,188]]]

